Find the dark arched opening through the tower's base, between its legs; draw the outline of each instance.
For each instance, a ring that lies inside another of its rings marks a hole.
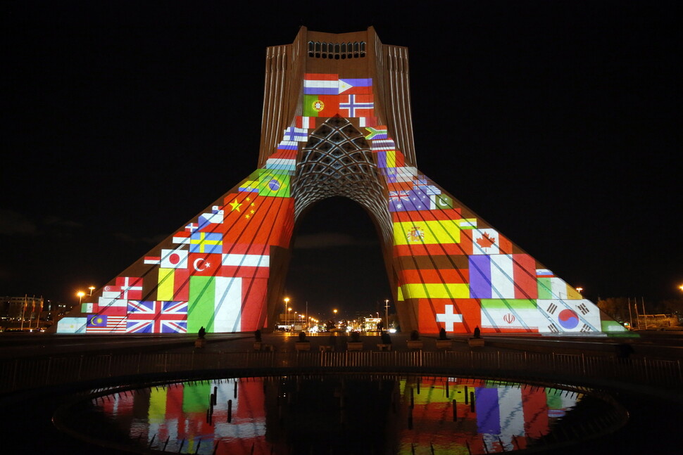
[[[308,316],[321,321],[332,318],[333,309],[337,319],[384,316],[391,288],[380,236],[361,205],[332,197],[301,215],[284,289],[296,319],[306,302]]]

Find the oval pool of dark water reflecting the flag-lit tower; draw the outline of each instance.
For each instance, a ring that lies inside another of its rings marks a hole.
[[[89,440],[184,454],[487,454],[625,423],[589,390],[445,376],[273,376],[107,390],[56,416]]]

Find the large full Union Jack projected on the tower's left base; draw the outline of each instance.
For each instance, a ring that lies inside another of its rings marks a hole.
[[[127,333],[187,333],[187,302],[128,301]]]

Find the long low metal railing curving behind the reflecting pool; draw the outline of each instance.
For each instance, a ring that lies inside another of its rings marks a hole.
[[[372,371],[439,373],[553,381],[575,385],[648,385],[680,389],[680,361],[618,359],[584,354],[529,352],[162,352],[27,358],[0,363],[0,392],[84,383],[128,381],[139,375],[213,373],[239,370],[259,374],[282,372]]]

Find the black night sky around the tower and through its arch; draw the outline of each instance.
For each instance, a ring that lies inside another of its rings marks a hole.
[[[104,285],[256,169],[266,46],[372,25],[409,48],[422,172],[589,298],[679,296],[676,2],[228,3],[0,7],[0,295]],[[359,206],[298,233],[297,302],[389,297]]]

